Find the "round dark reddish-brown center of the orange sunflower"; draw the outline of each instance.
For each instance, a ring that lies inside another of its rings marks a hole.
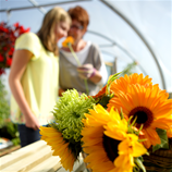
[[[133,116],[132,122],[135,118],[137,119],[136,120],[137,127],[140,127],[140,125],[144,124],[144,128],[146,128],[153,121],[152,112],[146,107],[136,107],[130,112],[128,116]]]

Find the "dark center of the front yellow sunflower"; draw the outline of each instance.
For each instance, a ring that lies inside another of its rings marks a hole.
[[[110,161],[114,161],[114,159],[119,156],[118,153],[118,145],[120,144],[120,140],[110,138],[106,135],[103,135],[102,137],[102,144],[103,144],[103,148],[107,152],[108,158],[110,159]]]

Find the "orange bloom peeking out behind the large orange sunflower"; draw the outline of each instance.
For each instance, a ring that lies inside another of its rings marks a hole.
[[[112,93],[118,93],[119,90],[126,93],[126,88],[130,84],[139,84],[143,86],[151,85],[151,78],[149,76],[144,77],[143,74],[134,73],[132,75],[124,75],[124,77],[120,77],[111,83],[110,89]]]

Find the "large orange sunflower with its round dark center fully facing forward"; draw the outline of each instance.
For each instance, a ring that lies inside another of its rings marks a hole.
[[[137,128],[144,125],[144,136],[140,137],[146,138],[147,148],[161,143],[156,128],[169,130],[172,125],[172,100],[158,85],[128,85],[125,91],[118,91],[116,97],[109,101],[108,111],[112,107],[119,111],[122,108],[126,119],[137,118]]]

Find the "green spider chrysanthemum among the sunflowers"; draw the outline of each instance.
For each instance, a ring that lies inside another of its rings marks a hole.
[[[62,133],[64,139],[70,142],[81,140],[83,127],[82,119],[88,109],[93,109],[95,100],[83,94],[79,96],[76,89],[66,90],[53,109],[56,127]]]

